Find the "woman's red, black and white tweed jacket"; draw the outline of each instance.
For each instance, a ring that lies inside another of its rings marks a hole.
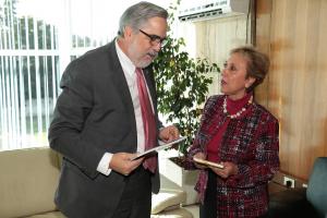
[[[192,157],[206,153],[214,136],[208,130],[213,120],[217,130],[226,122],[223,95],[211,96],[204,108],[201,126],[187,155],[186,168],[194,169]],[[278,120],[264,107],[253,102],[243,117],[230,120],[218,149],[218,161],[232,161],[239,173],[217,179],[217,216],[258,217],[268,208],[268,181],[279,169]],[[215,131],[214,131],[215,132]],[[202,170],[195,190],[204,199],[207,171]]]

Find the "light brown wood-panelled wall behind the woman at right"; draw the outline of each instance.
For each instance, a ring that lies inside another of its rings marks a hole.
[[[281,171],[307,179],[327,156],[327,1],[258,0],[256,43],[270,74],[257,99],[280,121]]]

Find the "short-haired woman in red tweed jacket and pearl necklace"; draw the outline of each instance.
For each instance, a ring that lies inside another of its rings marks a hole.
[[[264,217],[268,181],[279,169],[278,120],[253,100],[253,89],[269,69],[268,58],[251,47],[233,49],[222,71],[223,95],[208,98],[186,168],[201,169],[195,190],[201,218]],[[195,164],[193,157],[222,169]]]

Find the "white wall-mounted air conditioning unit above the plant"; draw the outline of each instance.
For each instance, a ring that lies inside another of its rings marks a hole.
[[[247,14],[251,0],[182,0],[178,13],[181,22],[203,21]]]

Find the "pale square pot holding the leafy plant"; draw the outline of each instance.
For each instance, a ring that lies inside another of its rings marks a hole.
[[[165,175],[170,181],[174,182],[186,193],[186,201],[182,203],[183,206],[198,203],[197,192],[194,190],[198,171],[185,170],[180,165],[180,157],[171,157],[166,159]]]

